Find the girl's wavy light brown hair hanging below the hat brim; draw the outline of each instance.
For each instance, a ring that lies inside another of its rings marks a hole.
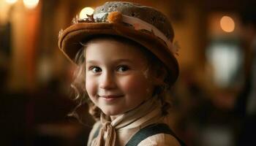
[[[72,116],[75,116],[75,118],[78,118],[80,120],[80,116],[78,113],[78,107],[82,106],[83,104],[89,104],[89,113],[93,116],[95,120],[99,120],[99,116],[101,114],[101,110],[99,107],[97,107],[90,99],[86,92],[86,69],[85,69],[85,51],[86,47],[91,43],[94,42],[95,39],[109,39],[109,40],[115,40],[127,45],[132,45],[136,48],[139,48],[140,51],[145,54],[146,59],[148,61],[148,66],[146,68],[145,76],[148,77],[148,71],[150,69],[155,70],[156,72],[165,71],[167,72],[167,67],[162,63],[162,61],[159,61],[159,59],[151,53],[148,49],[143,47],[142,45],[138,44],[137,42],[134,42],[130,39],[119,37],[119,36],[113,36],[113,35],[100,35],[100,36],[93,36],[87,39],[86,44],[81,43],[83,47],[80,48],[78,53],[75,55],[75,64],[77,64],[77,68],[74,72],[74,80],[71,84],[71,88],[75,91],[75,101],[78,101],[77,107],[72,111]],[[154,88],[153,96],[157,95],[159,100],[162,103],[162,115],[167,115],[167,110],[170,108],[170,101],[167,100],[167,91],[170,91],[170,80],[168,80],[170,77],[166,76],[164,82],[162,82],[162,85],[158,85]]]

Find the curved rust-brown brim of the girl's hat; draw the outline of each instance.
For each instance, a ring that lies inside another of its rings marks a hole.
[[[75,23],[66,28],[59,37],[59,48],[64,55],[74,62],[75,55],[80,50],[82,43],[85,43],[90,37],[100,34],[110,34],[131,39],[146,47],[151,53],[162,61],[170,74],[170,83],[176,81],[178,77],[178,62],[173,53],[168,50],[165,42],[158,37],[141,31],[135,31],[133,28],[124,26],[120,23]],[[161,48],[161,49],[159,49]]]

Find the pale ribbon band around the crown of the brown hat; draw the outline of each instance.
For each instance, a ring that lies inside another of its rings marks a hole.
[[[102,13],[94,14],[94,19],[100,20],[106,17],[106,15],[108,15],[109,13],[110,12],[102,12]],[[158,28],[151,25],[150,23],[146,23],[145,21],[140,20],[139,18],[134,18],[128,15],[122,15],[122,21],[124,23],[128,23],[129,25],[132,25],[136,31],[147,30],[152,32],[155,36],[159,37],[159,39],[162,39],[165,42],[165,44],[167,45],[167,47],[172,53],[176,52],[175,50],[173,50],[173,43],[170,42],[170,40],[167,39],[167,37],[165,37],[165,34],[163,34],[161,31],[159,31]]]

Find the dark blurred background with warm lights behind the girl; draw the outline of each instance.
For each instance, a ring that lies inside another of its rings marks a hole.
[[[127,0],[129,1],[129,0]],[[138,0],[173,23],[180,76],[172,128],[187,145],[256,145],[255,1]],[[0,0],[0,145],[85,145],[61,28],[105,0]],[[87,8],[86,8],[87,7]]]

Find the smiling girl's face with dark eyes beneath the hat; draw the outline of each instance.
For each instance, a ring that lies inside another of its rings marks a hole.
[[[119,115],[138,107],[153,93],[146,77],[148,61],[132,45],[97,39],[86,47],[86,91],[105,115]]]

